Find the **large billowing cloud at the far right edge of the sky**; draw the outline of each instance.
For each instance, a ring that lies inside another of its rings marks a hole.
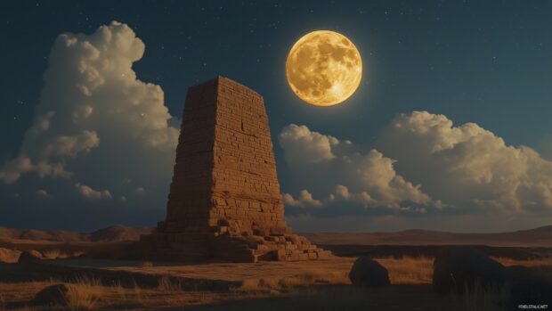
[[[552,162],[476,125],[426,111],[396,117],[378,148],[426,192],[459,209],[552,211]]]

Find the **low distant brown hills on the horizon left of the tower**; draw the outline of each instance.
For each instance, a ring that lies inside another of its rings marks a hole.
[[[124,225],[111,225],[91,233],[70,231],[41,231],[28,229],[10,229],[0,227],[0,239],[52,242],[116,242],[138,241],[140,235],[151,233],[150,228],[133,228]]]

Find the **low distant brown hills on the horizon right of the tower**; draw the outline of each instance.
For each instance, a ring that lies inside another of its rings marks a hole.
[[[394,233],[301,233],[322,245],[489,245],[552,247],[552,225],[510,233],[449,233],[405,230]]]

